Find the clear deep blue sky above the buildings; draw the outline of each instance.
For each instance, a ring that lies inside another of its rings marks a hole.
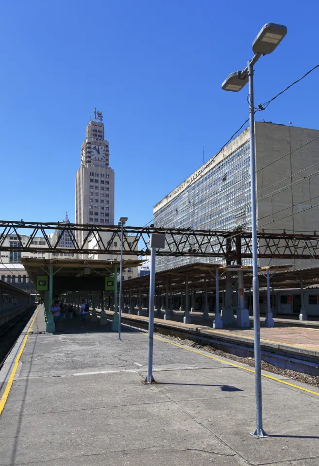
[[[246,89],[221,90],[263,24],[288,28],[255,66],[255,103],[318,62],[319,2],[2,2],[1,207],[5,220],[74,221],[75,172],[94,107],[115,170],[116,219],[152,207],[248,117]],[[258,119],[319,129],[319,69]]]

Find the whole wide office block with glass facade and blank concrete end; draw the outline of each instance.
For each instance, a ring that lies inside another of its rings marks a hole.
[[[312,202],[319,192],[319,178],[313,176],[312,168],[318,163],[318,138],[318,130],[255,123],[258,228],[277,233],[284,229],[299,233],[318,230],[319,204]],[[154,225],[223,231],[241,226],[251,230],[249,146],[247,128],[154,206]],[[269,264],[269,260],[264,261],[260,265]],[[193,262],[224,261],[158,256],[156,270]],[[272,265],[281,263],[280,259],[271,261]],[[243,265],[250,265],[250,259],[244,259]]]

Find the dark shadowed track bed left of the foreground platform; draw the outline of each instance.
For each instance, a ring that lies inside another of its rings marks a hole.
[[[34,306],[31,306],[0,327],[0,370],[33,313]]]

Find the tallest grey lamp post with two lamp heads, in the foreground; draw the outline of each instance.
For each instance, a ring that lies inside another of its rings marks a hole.
[[[252,202],[252,302],[255,356],[255,397],[256,397],[256,430],[252,435],[257,438],[267,436],[263,430],[261,361],[260,361],[260,316],[259,316],[259,283],[257,260],[257,216],[256,216],[256,176],[255,176],[255,129],[253,105],[253,65],[262,55],[273,52],[287,33],[287,28],[280,24],[267,23],[260,30],[252,43],[254,56],[242,71],[231,73],[222,83],[225,91],[238,92],[249,83],[249,126],[250,126],[250,173]]]

